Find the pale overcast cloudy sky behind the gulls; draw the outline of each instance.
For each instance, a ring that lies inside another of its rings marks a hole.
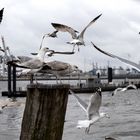
[[[93,18],[102,16],[85,32],[86,46],[72,56],[55,55],[59,60],[90,70],[99,66],[125,65],[95,50],[91,41],[105,51],[120,57],[140,61],[140,1],[139,0],[0,0],[4,9],[0,34],[14,55],[30,56],[37,52],[43,34],[54,31],[52,22],[62,23],[81,31]],[[58,38],[46,38],[43,46],[57,51],[71,51],[68,33]],[[0,42],[0,46],[1,46]]]

